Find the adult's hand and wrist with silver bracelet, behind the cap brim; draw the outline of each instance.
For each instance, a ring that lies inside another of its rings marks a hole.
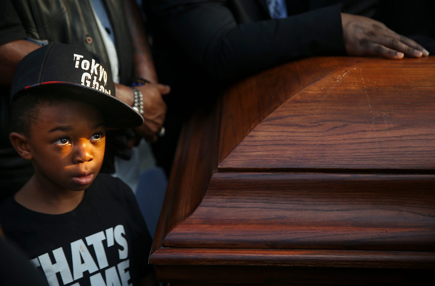
[[[116,97],[133,106],[133,90],[122,84],[115,84],[115,86]],[[161,130],[166,116],[166,104],[163,101],[162,95],[168,94],[171,88],[160,83],[149,83],[143,86],[135,86],[134,88],[141,91],[144,103],[144,124],[136,127],[135,131],[138,135],[155,142],[157,141],[157,132]]]

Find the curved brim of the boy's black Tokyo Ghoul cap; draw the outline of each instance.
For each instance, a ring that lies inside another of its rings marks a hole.
[[[59,94],[93,105],[103,113],[108,128],[134,128],[144,123],[144,118],[128,104],[91,87],[77,83],[52,82],[27,86],[25,90]],[[22,90],[24,91],[24,90]]]

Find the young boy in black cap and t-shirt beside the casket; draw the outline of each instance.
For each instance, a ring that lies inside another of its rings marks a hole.
[[[152,273],[134,194],[98,175],[105,127],[143,123],[114,92],[96,55],[60,43],[27,55],[13,79],[10,141],[35,173],[3,203],[0,224],[50,286],[140,285]]]

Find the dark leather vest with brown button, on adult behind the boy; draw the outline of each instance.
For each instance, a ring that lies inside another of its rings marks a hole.
[[[11,1],[27,36],[33,40],[68,43],[83,47],[109,63],[103,38],[90,0]],[[112,23],[119,59],[120,83],[130,84],[132,46],[123,1],[104,0]]]

